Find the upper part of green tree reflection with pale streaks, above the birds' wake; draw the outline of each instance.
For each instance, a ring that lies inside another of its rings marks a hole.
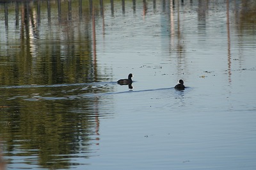
[[[20,20],[19,26],[12,30],[6,24],[6,43],[2,43],[1,48],[6,49],[6,54],[1,55],[1,77],[8,77],[6,84],[61,84],[74,82],[95,82],[99,81],[97,77],[97,65],[93,63],[92,58],[92,35],[90,17],[88,17],[88,8],[84,8],[83,22],[77,21],[77,24],[68,22],[61,15],[62,21],[60,26],[58,23],[51,23],[51,12],[49,10],[61,8],[60,1],[58,7],[54,1],[43,2],[36,1],[30,3],[15,3],[15,13]],[[64,1],[61,6],[68,6],[70,1]],[[85,1],[84,1],[85,2]],[[4,6],[13,7],[14,3],[4,4]],[[46,6],[47,5],[47,6]],[[51,6],[50,6],[51,5]],[[74,3],[76,8],[78,4]],[[85,4],[86,5],[86,4]],[[37,13],[35,10],[37,9]],[[40,11],[48,9],[49,26],[42,22],[44,14]],[[54,14],[54,15],[53,15]],[[40,17],[42,15],[42,17]],[[56,13],[52,13],[54,19]],[[71,17],[72,15],[68,15]],[[18,18],[17,17],[17,18]],[[73,20],[76,22],[76,18]],[[6,20],[8,23],[8,20]],[[10,31],[14,31],[10,33]],[[10,37],[9,37],[10,36]],[[14,37],[13,37],[14,36]],[[14,42],[12,42],[14,41]],[[1,52],[3,54],[3,52]],[[9,70],[3,75],[3,70]],[[13,77],[14,79],[10,79]],[[19,81],[18,81],[19,80]],[[10,82],[13,81],[13,82]],[[17,82],[18,81],[18,82]]]

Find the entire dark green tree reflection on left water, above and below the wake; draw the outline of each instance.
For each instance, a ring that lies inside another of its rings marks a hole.
[[[92,1],[13,1],[2,6],[6,33],[1,41],[0,140],[6,162],[19,165],[17,169],[29,167],[22,164],[68,169],[72,158],[97,155],[90,147],[99,144],[99,117],[111,110],[99,112],[102,98],[76,98],[112,89],[90,84],[108,81],[100,77],[93,55],[91,15],[98,11],[90,8]],[[77,9],[79,16],[72,14]]]

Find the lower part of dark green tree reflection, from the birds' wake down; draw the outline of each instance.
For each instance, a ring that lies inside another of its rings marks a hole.
[[[102,99],[75,97],[88,91],[99,93],[91,88],[1,89],[0,132],[5,156],[24,157],[24,164],[38,162],[45,168],[62,169],[68,168],[74,157],[93,155],[90,146],[99,144],[99,117],[106,116],[99,113]]]

